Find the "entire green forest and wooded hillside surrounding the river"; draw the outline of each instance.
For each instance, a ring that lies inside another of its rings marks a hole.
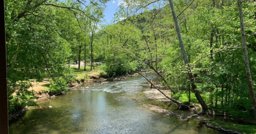
[[[105,78],[150,69],[178,105],[198,103],[203,113],[253,118],[255,5],[124,1],[116,23],[101,25],[105,2],[5,1],[9,110],[36,105],[29,79],[50,77],[51,91],[67,91],[75,76],[65,64],[79,61],[80,69],[80,61],[90,59],[91,70],[94,62],[104,63]]]

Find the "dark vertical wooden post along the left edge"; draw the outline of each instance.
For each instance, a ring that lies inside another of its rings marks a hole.
[[[4,0],[0,2],[0,133],[9,133]]]

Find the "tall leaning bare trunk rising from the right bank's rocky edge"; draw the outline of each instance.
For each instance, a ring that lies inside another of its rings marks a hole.
[[[185,48],[184,48],[184,45],[183,45],[183,41],[182,41],[182,38],[181,38],[181,34],[180,34],[180,27],[179,27],[179,23],[178,23],[178,20],[177,20],[177,16],[175,14],[175,11],[174,11],[174,6],[173,6],[173,3],[171,0],[169,0],[169,3],[170,3],[170,6],[171,6],[171,10],[172,10],[172,15],[173,15],[173,20],[175,22],[175,27],[176,27],[176,30],[177,30],[177,34],[178,34],[178,38],[179,38],[179,43],[180,43],[180,48],[181,48],[181,53],[183,55],[183,60],[185,62],[185,65],[187,66],[187,71],[188,71],[188,78],[189,78],[189,81],[191,82],[191,86],[192,86],[192,89],[194,90],[194,93],[195,93],[195,96],[198,100],[198,102],[201,104],[202,106],[202,113],[209,113],[209,109],[208,109],[208,106],[205,104],[202,96],[199,94],[199,91],[196,90],[196,85],[195,85],[195,82],[194,82],[194,78],[193,78],[193,74],[190,70],[190,65],[188,63],[188,60],[187,60],[187,55],[186,55],[186,52],[185,52]]]

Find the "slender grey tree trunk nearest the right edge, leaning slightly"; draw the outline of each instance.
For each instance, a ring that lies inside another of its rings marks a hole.
[[[239,20],[240,20],[240,28],[241,28],[241,35],[242,35],[242,45],[243,45],[246,77],[247,77],[247,82],[248,82],[248,86],[249,86],[249,90],[250,90],[250,96],[251,96],[251,102],[252,102],[254,117],[255,117],[255,120],[256,120],[256,99],[255,99],[255,93],[254,93],[253,84],[252,84],[252,76],[251,76],[248,54],[247,54],[247,48],[246,48],[247,46],[246,46],[246,40],[245,40],[244,18],[243,18],[243,9],[242,9],[241,0],[237,0],[237,4],[238,4],[238,9],[239,9]]]

